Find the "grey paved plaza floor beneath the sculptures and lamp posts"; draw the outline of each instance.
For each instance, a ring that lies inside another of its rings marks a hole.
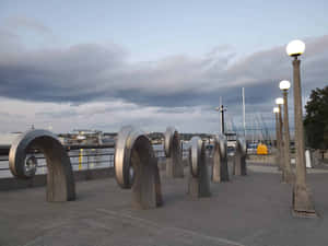
[[[162,174],[164,204],[131,209],[131,190],[115,178],[77,183],[77,201],[46,202],[45,187],[0,192],[1,246],[326,246],[328,173],[311,172],[319,214],[294,218],[292,188],[276,167],[211,184],[212,197],[192,200],[187,176]],[[185,174],[188,169],[185,168]]]

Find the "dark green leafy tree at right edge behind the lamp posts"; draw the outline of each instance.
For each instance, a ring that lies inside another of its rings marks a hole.
[[[304,127],[311,148],[328,149],[328,86],[313,90],[305,105]]]

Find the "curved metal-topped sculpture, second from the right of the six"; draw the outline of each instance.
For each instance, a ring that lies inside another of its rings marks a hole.
[[[229,181],[226,139],[224,136],[215,136],[212,166],[212,181]]]

